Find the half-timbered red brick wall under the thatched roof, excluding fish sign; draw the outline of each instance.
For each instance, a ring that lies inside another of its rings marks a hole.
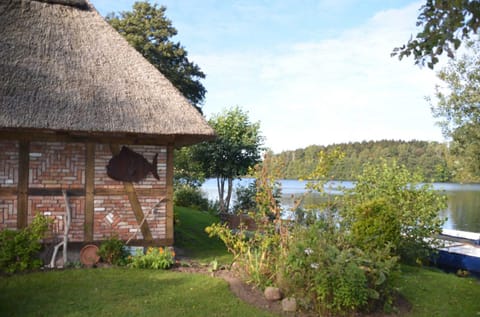
[[[143,233],[147,232],[154,241],[172,242],[173,232],[167,232],[173,229],[167,226],[168,147],[127,145],[149,162],[158,153],[160,180],[150,173],[139,183],[125,184],[106,174],[112,153],[121,146],[28,142],[28,158],[23,159],[28,164],[28,184],[25,185],[19,181],[22,165],[20,141],[0,140],[0,230],[22,227],[18,206],[21,193],[25,191],[22,188],[28,188],[27,224],[36,213],[43,213],[54,219],[52,230],[61,235],[65,229],[66,210],[62,190],[66,190],[72,212],[70,241],[98,241],[113,234],[124,240],[144,240],[148,237]],[[93,166],[88,167],[89,164]],[[92,169],[90,181],[88,169]],[[135,212],[135,206],[141,208],[142,217],[138,210]],[[147,231],[140,228],[143,218]]]

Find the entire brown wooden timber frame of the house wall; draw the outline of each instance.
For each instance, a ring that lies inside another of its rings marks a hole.
[[[25,228],[28,225],[28,198],[30,196],[61,196],[64,188],[29,188],[29,154],[31,142],[67,142],[83,143],[85,145],[85,186],[82,189],[67,189],[67,194],[72,197],[85,197],[85,220],[84,220],[84,243],[97,242],[93,239],[94,233],[94,198],[97,195],[119,196],[126,195],[134,212],[137,224],[143,240],[131,240],[131,245],[173,245],[174,243],[174,219],[173,219],[173,138],[129,138],[129,137],[86,137],[71,136],[68,134],[52,135],[51,133],[31,135],[0,131],[0,141],[18,142],[18,184],[17,187],[0,187],[0,197],[17,197],[17,228]],[[95,145],[107,144],[112,154],[119,152],[119,145],[152,145],[162,146],[167,149],[166,161],[166,189],[138,188],[132,183],[123,182],[124,188],[95,188]],[[142,211],[138,195],[166,197],[166,228],[164,239],[153,239],[148,222]]]

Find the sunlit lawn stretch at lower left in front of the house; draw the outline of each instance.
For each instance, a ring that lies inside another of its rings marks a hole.
[[[137,269],[71,269],[0,277],[1,316],[273,316],[225,281]]]

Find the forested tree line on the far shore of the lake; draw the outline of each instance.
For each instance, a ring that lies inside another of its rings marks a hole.
[[[272,154],[271,163],[277,177],[284,179],[308,179],[317,163],[319,153],[340,150],[345,154],[333,169],[332,178],[355,180],[363,166],[380,163],[382,160],[396,160],[410,172],[420,173],[425,182],[474,182],[478,177],[461,173],[458,161],[450,154],[448,145],[428,141],[364,141],[333,144],[329,146],[311,145],[304,149]]]

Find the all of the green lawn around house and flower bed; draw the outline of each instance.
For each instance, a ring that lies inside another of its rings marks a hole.
[[[204,228],[208,213],[175,208],[176,245],[193,259],[231,261]],[[480,316],[480,281],[402,266],[397,281],[408,317]],[[71,269],[0,277],[0,316],[273,316],[237,299],[206,275],[126,268]]]

